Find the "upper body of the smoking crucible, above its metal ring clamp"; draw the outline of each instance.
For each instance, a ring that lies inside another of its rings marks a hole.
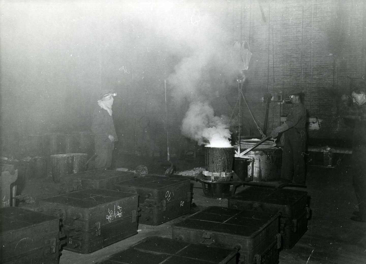
[[[218,148],[205,146],[206,171],[215,173],[232,173],[234,148]]]

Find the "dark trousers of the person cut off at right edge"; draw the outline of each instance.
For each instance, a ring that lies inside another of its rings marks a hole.
[[[366,221],[366,145],[356,145],[352,148],[352,162],[356,207],[358,207],[360,218]]]

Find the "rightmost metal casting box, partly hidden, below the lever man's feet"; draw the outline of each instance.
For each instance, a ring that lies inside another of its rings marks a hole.
[[[280,213],[280,234],[283,248],[292,248],[307,231],[310,209],[307,192],[251,186],[228,197],[228,207]]]

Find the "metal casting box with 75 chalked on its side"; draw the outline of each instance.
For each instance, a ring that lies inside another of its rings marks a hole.
[[[118,191],[139,195],[141,212],[138,221],[145,225],[161,225],[191,210],[189,179],[145,176],[115,186]]]

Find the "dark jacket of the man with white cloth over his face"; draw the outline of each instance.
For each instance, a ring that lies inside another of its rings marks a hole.
[[[115,141],[118,140],[112,116],[108,114],[107,110],[101,108],[99,105],[93,111],[91,131],[98,139],[107,141],[108,136],[112,135],[114,136]]]

